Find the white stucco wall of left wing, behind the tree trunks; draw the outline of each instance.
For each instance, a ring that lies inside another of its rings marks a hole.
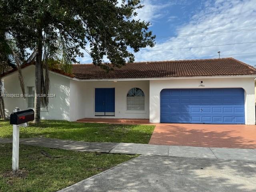
[[[26,86],[35,86],[35,66],[31,65],[22,69],[22,75]],[[41,109],[41,119],[51,120],[69,120],[70,113],[70,80],[63,76],[50,73],[50,94],[55,94],[55,98],[49,98],[48,111]],[[18,72],[14,72],[3,78],[4,93],[21,94],[20,83],[18,80]],[[15,107],[21,110],[28,109],[28,102],[24,98],[4,98],[6,115],[9,116]]]

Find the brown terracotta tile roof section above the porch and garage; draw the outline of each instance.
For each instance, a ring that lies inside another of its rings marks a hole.
[[[74,64],[80,79],[157,78],[219,75],[256,75],[256,69],[234,58],[128,63],[106,72],[93,64]]]

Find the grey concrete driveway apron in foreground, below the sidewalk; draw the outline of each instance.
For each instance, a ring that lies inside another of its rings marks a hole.
[[[254,192],[256,164],[139,156],[59,192]]]

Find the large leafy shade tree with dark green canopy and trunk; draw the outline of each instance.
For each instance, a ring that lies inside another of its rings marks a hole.
[[[0,0],[10,21],[5,36],[15,43],[20,60],[35,61],[36,123],[41,103],[48,104],[47,98],[37,95],[49,91],[50,61],[57,60],[62,69],[71,71],[72,62],[85,50],[95,65],[111,70],[133,62],[132,51],[154,46],[150,23],[133,19],[142,7],[140,0],[120,5],[118,0]]]

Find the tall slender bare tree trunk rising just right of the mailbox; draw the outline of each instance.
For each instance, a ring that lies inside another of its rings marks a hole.
[[[35,107],[34,107],[35,119],[34,119],[34,123],[40,122],[41,68],[42,68],[42,29],[38,29],[38,42],[36,45]]]

